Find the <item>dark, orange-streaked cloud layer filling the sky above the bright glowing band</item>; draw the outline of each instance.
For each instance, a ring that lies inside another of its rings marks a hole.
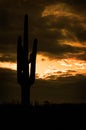
[[[29,41],[38,38],[38,51],[57,58],[86,60],[85,0],[1,0],[0,60],[16,60],[18,35],[23,35],[23,18],[29,16]]]

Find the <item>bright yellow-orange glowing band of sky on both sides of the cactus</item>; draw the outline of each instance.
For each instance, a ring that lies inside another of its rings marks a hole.
[[[86,62],[77,59],[53,59],[46,55],[37,55],[36,78],[56,79],[60,76],[86,74]],[[16,70],[16,63],[0,62],[0,68]]]

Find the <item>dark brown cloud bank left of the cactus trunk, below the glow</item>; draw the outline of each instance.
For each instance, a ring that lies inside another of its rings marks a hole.
[[[20,87],[16,72],[0,68],[0,103],[20,102]]]

